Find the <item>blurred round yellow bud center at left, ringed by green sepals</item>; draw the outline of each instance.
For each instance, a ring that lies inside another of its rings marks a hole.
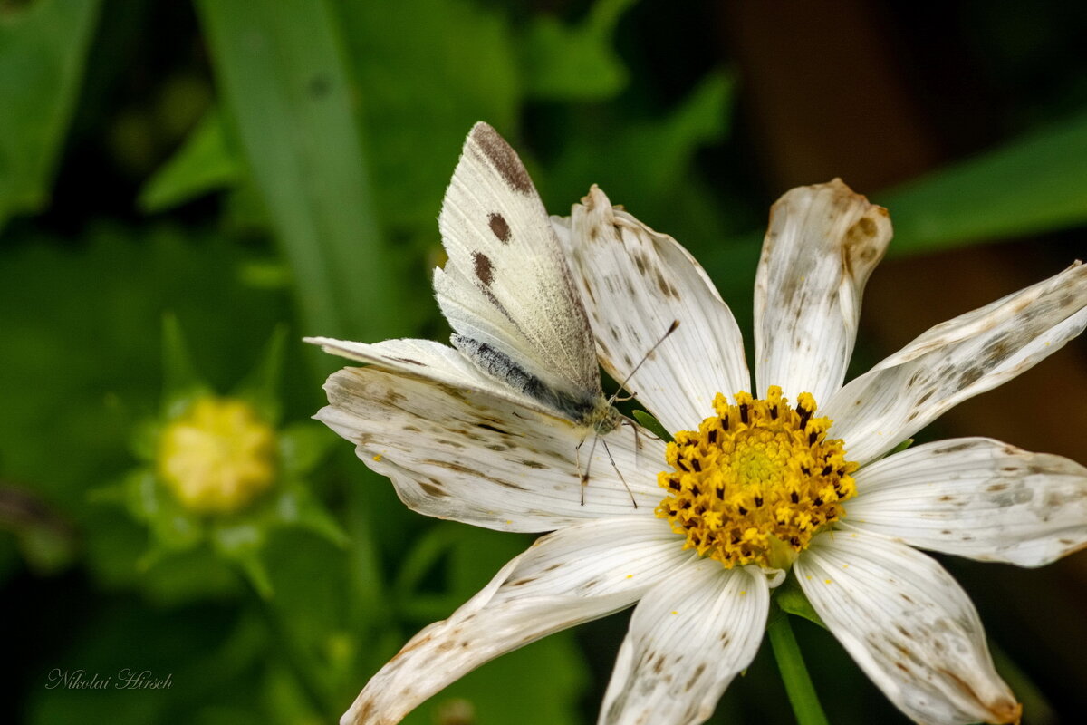
[[[240,400],[201,398],[163,432],[159,474],[187,509],[233,513],[275,480],[275,433]]]

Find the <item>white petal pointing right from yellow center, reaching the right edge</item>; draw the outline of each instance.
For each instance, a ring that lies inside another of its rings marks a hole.
[[[1060,455],[959,438],[889,455],[855,478],[847,529],[1020,566],[1087,546],[1087,468]]]

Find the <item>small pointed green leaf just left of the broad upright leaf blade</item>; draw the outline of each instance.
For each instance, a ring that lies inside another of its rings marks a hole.
[[[218,109],[212,108],[185,145],[145,185],[139,205],[146,212],[165,211],[232,187],[243,173],[237,152],[227,145]]]

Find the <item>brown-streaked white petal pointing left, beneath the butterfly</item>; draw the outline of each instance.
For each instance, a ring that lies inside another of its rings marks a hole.
[[[429,516],[546,532],[586,518],[652,516],[661,499],[663,443],[633,424],[596,440],[503,397],[377,367],[334,373],[325,390],[330,404],[315,417]],[[584,491],[578,459],[589,473]]]

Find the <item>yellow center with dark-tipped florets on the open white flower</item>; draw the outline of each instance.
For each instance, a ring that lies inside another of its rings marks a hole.
[[[830,420],[814,417],[815,399],[796,408],[772,386],[765,400],[737,392],[713,401],[716,415],[669,443],[671,472],[658,476],[669,495],[657,507],[685,549],[726,568],[760,564],[788,568],[822,527],[845,515],[857,493],[840,439],[827,439]]]

